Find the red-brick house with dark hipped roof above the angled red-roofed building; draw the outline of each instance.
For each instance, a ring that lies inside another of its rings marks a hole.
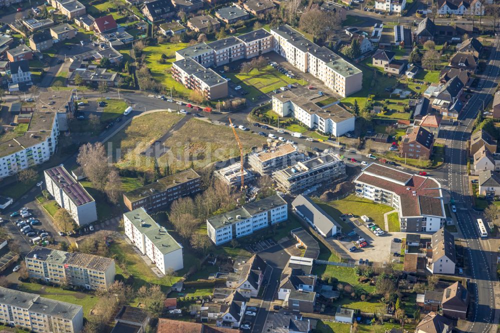
[[[399,154],[401,157],[429,159],[434,145],[434,134],[423,127],[416,126],[401,138]]]

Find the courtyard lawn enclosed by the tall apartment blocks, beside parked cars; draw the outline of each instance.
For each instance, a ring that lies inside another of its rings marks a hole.
[[[252,98],[267,93],[287,84],[299,84],[300,80],[289,78],[271,66],[265,66],[262,70],[252,69],[248,74],[239,72],[226,72],[232,82],[241,85],[248,91],[246,98]]]

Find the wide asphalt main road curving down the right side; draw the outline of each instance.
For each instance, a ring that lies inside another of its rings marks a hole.
[[[467,139],[470,137],[472,123],[477,112],[481,112],[483,103],[486,105],[495,91],[500,72],[500,43],[496,40],[495,50],[491,52],[490,61],[486,66],[481,80],[481,87],[472,95],[462,110],[459,120],[461,125],[454,127],[448,134],[448,144],[445,147],[447,168],[446,172],[451,197],[455,200],[457,208],[456,217],[458,226],[463,237],[468,240],[468,260],[470,263],[470,275],[472,277],[473,299],[472,313],[469,314],[470,332],[491,331],[491,323],[494,320],[495,295],[493,283],[496,280],[495,272],[491,271],[489,265],[491,252],[487,240],[480,240],[476,227],[476,219],[479,217],[473,210],[472,200],[469,192],[467,176]],[[475,289],[475,290],[474,290]]]

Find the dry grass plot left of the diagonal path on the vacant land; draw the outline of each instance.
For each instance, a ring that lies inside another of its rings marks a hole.
[[[133,119],[108,141],[111,144],[112,156],[117,161],[116,165],[134,167],[137,170],[152,169],[152,158],[140,155],[140,153],[161,137],[182,116],[165,111],[153,112]],[[106,147],[108,147],[107,144]]]

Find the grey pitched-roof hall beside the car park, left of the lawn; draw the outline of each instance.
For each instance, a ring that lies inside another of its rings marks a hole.
[[[341,232],[342,227],[307,196],[298,195],[291,205],[292,209],[323,237],[328,238]]]

